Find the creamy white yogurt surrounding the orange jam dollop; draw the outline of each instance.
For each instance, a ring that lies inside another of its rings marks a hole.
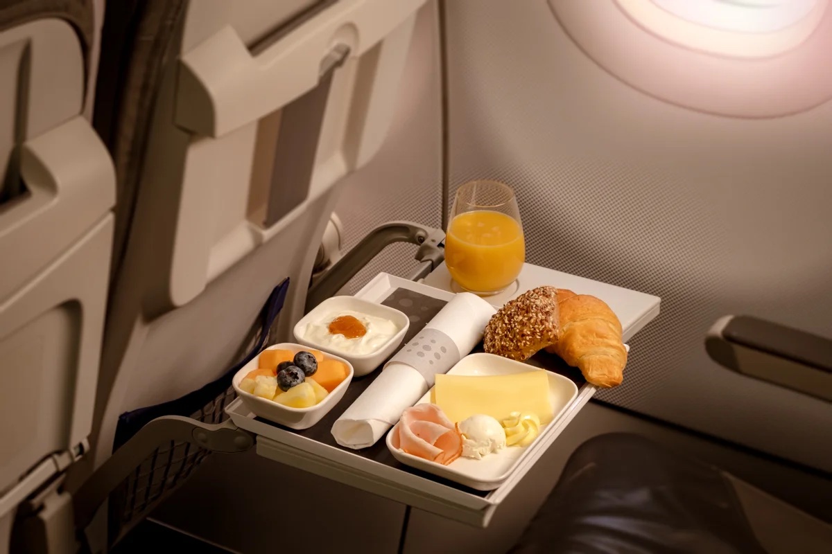
[[[350,339],[340,333],[330,332],[329,324],[344,316],[353,316],[359,320],[366,329],[364,336]],[[399,330],[399,326],[389,319],[384,319],[384,317],[368,316],[358,311],[344,310],[326,314],[319,321],[308,324],[303,336],[306,341],[314,342],[323,348],[331,348],[344,354],[364,355],[378,351]]]

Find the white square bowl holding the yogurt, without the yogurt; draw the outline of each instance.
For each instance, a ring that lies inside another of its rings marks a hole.
[[[314,340],[313,338],[307,338],[307,336],[305,336],[307,326],[309,326],[310,323],[322,324],[326,321],[330,321],[336,316],[339,316],[339,314],[349,311],[359,312],[366,316],[381,317],[392,321],[398,328],[398,331],[396,331],[393,336],[390,336],[389,340],[384,341],[383,344],[375,346],[373,351],[362,354],[347,351],[339,346],[324,344],[323,341]],[[375,368],[379,367],[379,365],[381,365],[381,363],[387,359],[389,355],[393,354],[396,348],[398,348],[402,343],[404,334],[408,332],[409,326],[410,320],[408,319],[408,316],[404,315],[403,312],[396,310],[395,308],[376,304],[375,302],[360,300],[356,297],[332,297],[327,298],[324,302],[321,302],[314,308],[314,310],[310,311],[303,317],[303,319],[298,321],[297,325],[295,325],[295,341],[300,342],[300,344],[304,346],[310,346],[311,348],[316,348],[319,351],[338,355],[345,360],[348,360],[349,363],[353,365],[355,375],[360,376],[371,373],[375,370]]]

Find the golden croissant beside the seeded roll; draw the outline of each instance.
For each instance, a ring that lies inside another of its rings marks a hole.
[[[626,365],[622,324],[602,300],[557,289],[560,339],[546,351],[577,367],[588,382],[600,387],[621,385]]]

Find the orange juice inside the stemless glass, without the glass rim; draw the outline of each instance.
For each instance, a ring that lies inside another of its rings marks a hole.
[[[458,284],[473,292],[498,292],[520,274],[526,243],[520,223],[491,210],[463,212],[451,220],[445,263]]]

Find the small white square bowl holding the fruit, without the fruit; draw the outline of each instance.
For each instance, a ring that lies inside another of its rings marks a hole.
[[[299,351],[305,350],[306,348],[306,346],[295,344],[294,342],[281,342],[280,344],[265,348],[264,351],[284,349],[293,351],[297,354]],[[240,400],[245,403],[245,406],[257,416],[263,419],[268,419],[269,421],[274,421],[276,424],[285,425],[290,429],[309,429],[312,425],[318,423],[330,409],[333,409],[335,404],[338,404],[338,401],[341,400],[344,393],[347,391],[349,382],[353,380],[353,365],[350,364],[349,361],[344,360],[344,358],[341,358],[340,356],[331,355],[329,353],[324,353],[324,355],[332,358],[333,360],[344,362],[349,369],[349,373],[346,378],[341,381],[339,385],[332,390],[332,392],[329,393],[329,395],[326,395],[324,400],[321,400],[318,404],[310,406],[309,408],[292,408],[290,406],[278,404],[277,402],[273,402],[271,400],[266,400],[265,398],[260,398],[260,396],[252,395],[245,392],[245,390],[240,389],[240,381],[245,378],[245,375],[248,375],[250,371],[257,369],[260,354],[256,355],[254,360],[245,364],[241,370],[235,373],[234,378],[231,380],[231,385],[234,386],[234,390],[237,391],[237,396],[239,396]]]

